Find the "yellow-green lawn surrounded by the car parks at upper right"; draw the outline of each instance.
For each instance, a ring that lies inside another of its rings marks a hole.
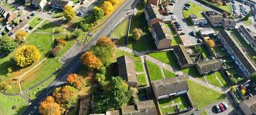
[[[203,7],[196,5],[193,2],[189,2],[190,6],[190,10],[182,10],[182,14],[185,17],[185,21],[187,23],[187,25],[192,26],[192,22],[189,19],[189,15],[190,14],[195,14],[195,16],[197,16],[197,18],[202,18],[202,14],[200,13],[200,11],[206,11],[206,9],[204,9]]]

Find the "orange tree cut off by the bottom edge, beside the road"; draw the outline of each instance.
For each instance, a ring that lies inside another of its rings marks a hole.
[[[54,98],[48,96],[40,103],[39,112],[42,115],[61,115],[63,109],[54,101]]]

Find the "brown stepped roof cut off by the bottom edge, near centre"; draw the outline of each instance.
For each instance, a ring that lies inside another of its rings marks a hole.
[[[156,105],[153,100],[139,101],[136,105],[122,106],[123,115],[156,115]]]

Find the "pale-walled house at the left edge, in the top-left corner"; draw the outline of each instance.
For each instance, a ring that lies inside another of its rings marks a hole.
[[[10,9],[3,5],[0,5],[0,14],[4,18],[3,21],[6,21],[6,24],[9,24],[10,21],[17,17],[16,13],[13,13]]]

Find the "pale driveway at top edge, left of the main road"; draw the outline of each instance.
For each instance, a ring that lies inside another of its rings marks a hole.
[[[97,5],[97,3],[99,3],[99,0],[89,0],[86,1],[84,4],[82,4],[76,11],[81,11],[82,13],[84,13],[84,15],[82,17],[86,17],[89,14],[92,13],[92,9],[95,5]]]

